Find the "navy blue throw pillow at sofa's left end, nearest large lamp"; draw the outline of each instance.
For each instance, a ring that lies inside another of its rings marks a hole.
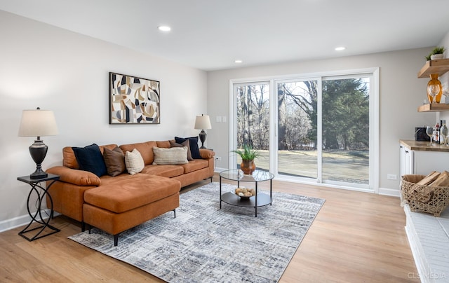
[[[97,144],[85,147],[72,147],[79,169],[92,172],[98,177],[107,174],[105,160]]]

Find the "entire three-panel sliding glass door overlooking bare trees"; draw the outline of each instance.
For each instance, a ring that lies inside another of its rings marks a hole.
[[[234,83],[232,149],[253,146],[257,168],[281,179],[373,188],[375,71]]]

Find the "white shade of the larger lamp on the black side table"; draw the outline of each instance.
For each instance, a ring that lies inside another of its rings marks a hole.
[[[50,110],[24,110],[20,120],[19,137],[45,137],[58,134],[55,114]]]

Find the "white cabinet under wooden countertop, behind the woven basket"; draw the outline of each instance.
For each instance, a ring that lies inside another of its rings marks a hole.
[[[449,171],[449,152],[412,151],[401,146],[400,172],[405,174],[427,175],[432,171]]]

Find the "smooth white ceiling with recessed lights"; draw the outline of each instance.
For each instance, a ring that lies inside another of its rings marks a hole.
[[[449,32],[448,0],[0,0],[0,10],[206,71],[436,46]]]

